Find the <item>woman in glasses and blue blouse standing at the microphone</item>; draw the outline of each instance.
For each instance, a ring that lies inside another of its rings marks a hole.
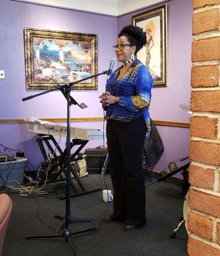
[[[114,212],[105,222],[125,221],[122,230],[146,223],[145,179],[142,150],[150,132],[149,105],[152,77],[136,53],[146,44],[139,27],[126,26],[119,33],[114,51],[122,66],[112,73],[106,92],[99,96],[106,111],[108,157],[114,188]]]

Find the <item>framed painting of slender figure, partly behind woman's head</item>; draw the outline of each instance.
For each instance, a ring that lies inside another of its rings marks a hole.
[[[146,32],[147,44],[137,58],[149,69],[154,87],[166,86],[166,5],[132,17],[132,23]]]

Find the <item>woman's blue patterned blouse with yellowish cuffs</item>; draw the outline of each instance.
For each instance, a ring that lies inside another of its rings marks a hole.
[[[150,115],[148,109],[153,79],[140,60],[135,60],[131,67],[126,70],[124,76],[117,81],[120,68],[112,72],[108,83],[106,83],[106,91],[114,96],[119,96],[120,100],[118,103],[103,107],[106,111],[105,119],[129,122],[143,115],[149,132]]]

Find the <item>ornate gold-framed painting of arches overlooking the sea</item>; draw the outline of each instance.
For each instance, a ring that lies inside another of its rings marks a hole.
[[[97,74],[97,35],[24,29],[26,88],[49,89]],[[97,77],[75,90],[97,90]]]

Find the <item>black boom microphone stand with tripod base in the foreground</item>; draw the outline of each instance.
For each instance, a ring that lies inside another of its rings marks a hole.
[[[76,255],[75,250],[73,248],[73,246],[70,243],[70,237],[74,236],[76,234],[81,234],[84,232],[88,232],[88,231],[93,231],[96,230],[96,228],[89,228],[86,230],[81,230],[78,232],[74,232],[72,233],[70,228],[69,228],[69,223],[71,221],[71,211],[70,211],[70,169],[71,169],[71,143],[70,143],[70,106],[71,105],[77,105],[80,108],[87,108],[87,106],[84,103],[78,104],[77,101],[75,99],[73,99],[73,97],[71,97],[70,92],[71,92],[71,86],[75,83],[80,83],[82,81],[85,81],[87,79],[91,79],[92,77],[97,77],[103,74],[108,74],[108,70],[103,71],[99,74],[96,74],[94,76],[89,76],[89,77],[85,77],[84,79],[80,79],[76,82],[71,82],[68,84],[64,84],[62,86],[57,86],[56,88],[50,89],[50,90],[46,90],[45,92],[41,92],[41,93],[37,93],[35,95],[31,95],[28,97],[25,97],[22,99],[22,101],[26,101],[26,100],[30,100],[33,99],[34,97],[38,97],[40,95],[43,95],[45,93],[50,93],[50,92],[54,92],[55,90],[61,90],[62,94],[64,95],[64,97],[66,98],[66,102],[67,102],[67,136],[66,136],[66,215],[65,215],[65,228],[62,231],[62,234],[52,234],[52,235],[44,235],[44,236],[27,236],[25,237],[25,239],[33,239],[33,238],[47,238],[47,237],[65,237],[65,241],[68,242],[73,250],[74,255]]]

